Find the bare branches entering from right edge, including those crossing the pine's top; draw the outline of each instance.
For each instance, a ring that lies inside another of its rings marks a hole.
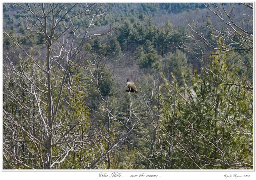
[[[231,83],[253,92],[253,4],[241,3],[233,6],[227,6],[224,3],[204,4],[207,8],[207,14],[202,15],[204,27],[197,23],[187,20],[188,26],[193,32],[189,36],[194,42],[193,45],[182,43],[178,48],[189,49],[200,55],[198,59],[205,61],[205,55],[216,53],[230,53],[227,62],[235,61],[235,68],[230,68],[234,74],[240,77]],[[238,7],[237,7],[238,6]],[[236,13],[242,8],[242,12]],[[235,14],[236,13],[236,14]],[[213,24],[211,20],[218,20],[218,25]],[[206,31],[207,32],[206,32]],[[232,54],[233,53],[233,54]],[[242,57],[241,57],[242,56]],[[209,70],[209,69],[208,69]],[[210,70],[209,70],[210,71]],[[240,71],[240,72],[239,72]],[[218,75],[216,75],[218,77]],[[225,79],[218,77],[222,83],[227,83]]]

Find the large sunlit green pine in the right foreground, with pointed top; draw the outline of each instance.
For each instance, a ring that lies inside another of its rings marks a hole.
[[[197,167],[251,168],[252,93],[232,83],[239,77],[229,71],[226,56],[211,55],[203,76],[195,74],[193,89],[187,87],[182,124],[190,141],[183,142]]]

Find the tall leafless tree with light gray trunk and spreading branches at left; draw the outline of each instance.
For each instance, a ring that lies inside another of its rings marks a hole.
[[[6,96],[5,99],[4,96],[3,100],[6,102],[15,101],[14,103],[20,105],[24,111],[28,109],[34,111],[40,117],[40,120],[36,120],[36,122],[39,122],[37,126],[40,126],[41,129],[38,132],[34,132],[31,126],[31,131],[26,131],[22,123],[17,123],[21,119],[17,119],[13,114],[10,114],[10,111],[5,111],[4,109],[4,125],[9,131],[5,133],[10,133],[12,125],[15,125],[19,131],[25,133],[28,139],[34,142],[40,159],[40,167],[43,169],[51,169],[54,164],[60,164],[70,152],[81,150],[79,144],[83,142],[77,140],[80,135],[76,134],[78,132],[74,133],[73,136],[70,133],[76,127],[84,126],[86,123],[80,122],[79,119],[76,119],[75,122],[70,122],[67,117],[61,119],[58,115],[60,111],[63,113],[63,109],[70,106],[70,99],[75,100],[76,95],[84,93],[88,87],[81,81],[81,76],[76,76],[79,71],[92,67],[94,56],[90,57],[90,52],[85,48],[86,43],[98,36],[110,35],[114,28],[110,27],[103,33],[95,33],[96,27],[94,23],[104,18],[108,9],[104,9],[100,3],[85,3],[85,8],[82,10],[78,8],[79,5],[79,3],[14,4],[14,6],[30,14],[25,18],[22,26],[26,27],[29,32],[38,33],[44,37],[43,47],[37,49],[39,56],[34,57],[30,50],[28,51],[24,45],[17,42],[8,33],[7,29],[3,31],[3,34],[18,47],[17,53],[21,53],[25,58],[30,59],[28,67],[36,69],[34,73],[27,73],[22,67],[18,69],[15,65],[12,65],[12,60],[9,58],[9,54],[6,53],[3,63],[5,69],[4,81],[8,83],[4,83],[4,93],[9,95],[13,93],[11,96],[15,97],[15,92],[11,92],[9,89],[10,83],[15,84],[24,91],[24,95],[29,94],[36,102],[36,105],[33,105],[33,107],[32,105],[27,106],[22,102],[23,97],[11,99]],[[35,73],[40,74],[38,76],[40,79],[36,79],[38,77],[36,77]],[[16,79],[17,77],[28,82],[27,85],[29,87],[22,87],[22,84],[19,84],[18,79]],[[72,111],[70,113],[72,114]],[[28,119],[24,114],[18,114],[18,116]],[[37,116],[35,115],[34,117]],[[10,122],[7,123],[7,121]],[[27,121],[26,124],[30,126],[32,122]],[[61,130],[62,128],[65,130]],[[13,138],[13,140],[16,141],[17,139]],[[23,160],[20,160],[14,152],[17,147],[15,145],[9,146],[7,141],[8,137],[6,136],[4,138],[6,146],[4,145],[3,150],[3,154],[6,154],[6,162],[12,159],[18,164],[33,168],[31,165],[26,164],[30,157],[22,157]],[[23,145],[25,144],[24,140]],[[63,153],[57,153],[57,155],[53,156],[52,149],[56,149],[56,146],[61,148],[60,152]],[[8,163],[8,167],[12,168],[12,164]]]

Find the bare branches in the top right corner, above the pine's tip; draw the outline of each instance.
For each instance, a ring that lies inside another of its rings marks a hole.
[[[214,51],[222,50],[223,52],[253,49],[252,3],[241,3],[240,6],[246,7],[241,16],[235,15],[234,7],[226,8],[224,3],[208,3],[204,6],[209,10],[206,19],[203,16],[204,27],[208,29],[208,34],[203,33],[204,28],[202,26],[198,26],[197,23],[187,19],[188,26],[196,35],[189,36],[195,44],[193,47],[182,44],[182,48],[190,49],[202,55],[210,54],[209,47]],[[214,18],[221,23],[221,26],[211,23],[210,19]]]

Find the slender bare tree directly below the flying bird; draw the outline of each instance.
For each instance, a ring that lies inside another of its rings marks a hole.
[[[132,93],[127,92],[125,93],[125,89],[127,87],[124,87],[123,92],[122,90],[115,89],[116,91],[119,91],[116,93],[115,96],[122,95],[126,99],[126,101],[122,101],[122,98],[119,97],[119,101],[116,102],[113,99],[116,99],[118,97],[111,96],[111,92],[104,96],[104,88],[101,86],[101,81],[106,82],[106,79],[111,79],[109,83],[109,88],[113,88],[114,86],[114,71],[112,74],[108,75],[108,77],[102,75],[102,64],[96,65],[96,68],[91,71],[92,74],[92,81],[93,84],[96,85],[96,91],[100,97],[100,102],[98,103],[99,106],[96,109],[91,109],[94,112],[94,119],[95,120],[104,120],[105,121],[105,129],[100,134],[102,136],[102,144],[106,142],[106,147],[100,151],[99,155],[96,156],[93,161],[91,162],[90,166],[88,166],[88,169],[90,168],[114,168],[114,164],[126,164],[127,162],[123,162],[124,160],[120,160],[120,162],[116,162],[116,157],[114,157],[114,154],[124,152],[114,152],[116,149],[120,150],[126,146],[125,144],[129,141],[129,136],[134,135],[134,131],[142,131],[142,129],[146,129],[146,127],[143,126],[144,123],[150,123],[152,120],[149,119],[152,108],[152,101],[156,96],[157,91],[157,83],[154,83],[150,89],[147,89],[145,92],[145,89],[143,89],[140,85],[138,86],[138,89],[140,89],[139,93]],[[125,81],[124,81],[125,84]],[[104,85],[106,85],[104,83]],[[106,85],[107,86],[107,85]],[[121,92],[120,92],[121,91]],[[113,102],[115,105],[113,106]],[[126,104],[127,103],[127,104]],[[126,108],[118,108],[117,106],[126,106]],[[140,106],[138,106],[140,105]],[[89,105],[88,105],[89,106]],[[118,110],[117,110],[118,109]],[[104,137],[105,136],[105,137]],[[97,148],[100,149],[100,146],[102,144],[98,144]],[[129,142],[128,142],[129,144]],[[133,146],[134,144],[132,144]],[[104,145],[103,145],[104,146]],[[112,155],[111,155],[112,154]],[[103,159],[103,160],[102,160]],[[102,161],[105,161],[107,165],[101,165],[105,164],[102,163]],[[117,167],[115,167],[117,168]]]

